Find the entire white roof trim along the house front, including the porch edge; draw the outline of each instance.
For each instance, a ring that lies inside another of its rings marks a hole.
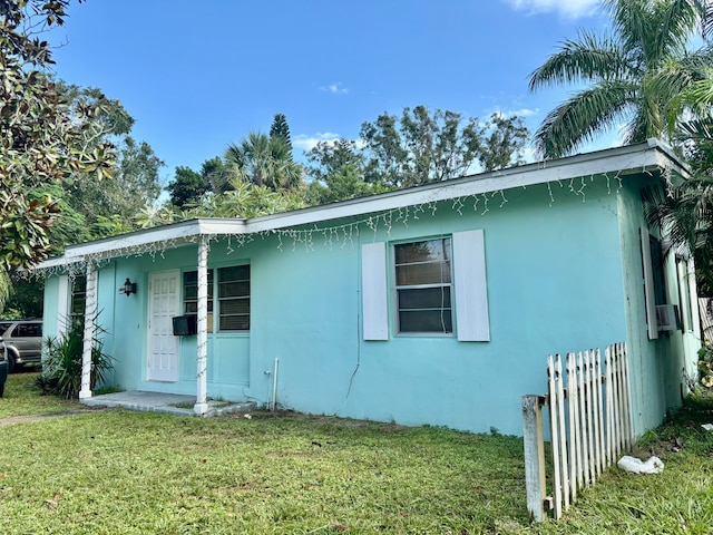
[[[465,176],[253,220],[206,217],[135,231],[119,236],[70,245],[66,249],[64,256],[47,260],[39,264],[38,268],[47,269],[79,262],[88,255],[111,257],[121,252],[152,243],[173,242],[175,245],[183,245],[184,243],[195,242],[195,239],[201,235],[252,234],[370,213],[381,213],[468,195],[569,181],[582,176],[608,173],[621,174],[664,167],[675,167],[676,172],[682,176],[688,176],[687,169],[676,159],[671,149],[656,139],[649,139],[647,143],[637,145],[509,167],[502,171]]]

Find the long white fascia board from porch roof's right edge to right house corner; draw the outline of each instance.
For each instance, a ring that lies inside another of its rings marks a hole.
[[[636,150],[632,150],[636,148]],[[291,226],[309,225],[330,220],[361,216],[370,213],[387,212],[428,204],[438,201],[499,192],[515,187],[526,187],[558,181],[569,181],[582,176],[603,175],[627,171],[645,171],[671,165],[671,158],[660,153],[655,147],[639,144],[634,147],[622,147],[621,154],[616,149],[606,150],[606,157],[597,155],[579,155],[561,160],[543,162],[537,164],[510,167],[501,172],[484,174],[480,177],[469,176],[453,178],[438,184],[401,189],[392,193],[361,197],[351,202],[338,203],[334,206],[318,206],[295,212],[256,217],[246,222],[246,232],[264,232]],[[680,166],[680,165],[678,165]]]

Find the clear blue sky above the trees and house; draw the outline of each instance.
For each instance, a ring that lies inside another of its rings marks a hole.
[[[528,75],[578,28],[603,29],[597,0],[88,0],[53,30],[56,74],[101,88],[133,135],[198,171],[251,130],[287,117],[296,156],[319,139],[409,106],[534,130],[569,89],[529,94]],[[599,142],[615,143],[616,133]]]

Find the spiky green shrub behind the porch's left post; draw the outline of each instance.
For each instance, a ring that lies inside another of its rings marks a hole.
[[[95,320],[96,321],[96,320]],[[97,327],[95,332],[101,332]],[[102,352],[101,340],[95,339],[91,344],[91,374],[89,388],[107,379],[114,368],[110,356]],[[69,330],[60,337],[45,339],[45,358],[42,372],[36,385],[45,393],[53,393],[65,398],[76,398],[81,389],[81,357],[84,351],[84,323],[75,321]]]

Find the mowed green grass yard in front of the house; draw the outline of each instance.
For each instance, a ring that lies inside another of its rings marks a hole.
[[[13,403],[23,414],[33,402],[37,412],[67,409],[32,391],[29,376],[10,377],[1,415]],[[0,427],[0,525],[7,534],[711,533],[713,434],[700,430],[711,415],[710,405],[690,406],[647,437],[662,475],[613,469],[564,521],[537,526],[527,521],[519,438],[294,414],[61,416]],[[675,439],[684,447],[673,454]]]

